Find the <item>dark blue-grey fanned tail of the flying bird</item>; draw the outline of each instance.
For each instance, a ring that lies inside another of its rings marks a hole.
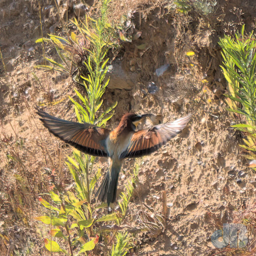
[[[105,177],[95,194],[95,196],[97,196],[98,199],[102,202],[106,201],[107,199],[108,207],[110,203],[114,203],[116,200],[117,184],[120,169],[120,165],[112,165],[110,173],[107,172],[105,174]]]

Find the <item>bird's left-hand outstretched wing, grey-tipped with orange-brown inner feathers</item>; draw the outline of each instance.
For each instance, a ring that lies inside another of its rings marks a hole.
[[[43,125],[55,136],[82,152],[93,156],[108,156],[104,146],[110,130],[92,124],[70,122],[37,109]]]

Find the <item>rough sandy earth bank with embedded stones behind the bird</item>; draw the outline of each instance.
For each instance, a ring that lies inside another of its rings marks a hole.
[[[218,252],[211,243],[212,233],[223,223],[245,219],[247,234],[252,236],[250,248],[255,247],[255,173],[246,168],[247,160],[241,156],[241,134],[230,128],[235,118],[223,101],[225,80],[218,46],[219,37],[233,34],[242,23],[248,32],[254,28],[252,3],[219,1],[210,16],[195,11],[182,14],[167,1],[111,3],[111,18],[116,20],[133,11],[141,36],[123,43],[112,63],[113,80],[103,96],[104,107],[116,100],[118,105],[109,128],[128,111],[155,115],[142,128],[196,110],[178,137],[139,160],[139,182],[127,224],[149,231],[137,235],[138,248],[131,255],[211,255]],[[92,8],[97,8],[96,3]],[[64,21],[66,10],[68,18],[76,15],[73,6],[67,7],[63,1],[60,15]],[[74,120],[68,96],[75,96],[74,88],[83,93],[83,88],[70,77],[33,68],[43,60],[41,45],[35,40],[42,33],[61,32],[51,1],[40,5],[35,0],[0,1],[0,22],[5,64],[0,64],[0,234],[6,236],[0,238],[0,251],[3,255],[8,250],[45,255],[42,237],[46,231],[34,223],[35,216],[43,215],[38,195],[48,191],[50,179],[60,184],[72,182],[64,163],[72,149],[44,129],[34,106],[44,103],[52,114]],[[191,50],[195,55],[188,57],[186,52]],[[52,49],[46,51],[56,57]],[[118,194],[134,162],[126,160],[123,165]],[[107,166],[104,159],[95,165],[103,170]]]

